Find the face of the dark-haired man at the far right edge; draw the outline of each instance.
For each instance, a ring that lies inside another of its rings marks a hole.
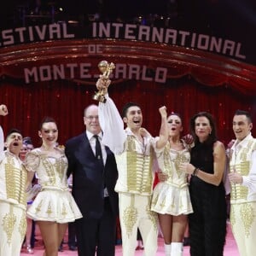
[[[251,132],[253,123],[245,114],[235,115],[233,118],[233,131],[236,139],[241,141]]]

